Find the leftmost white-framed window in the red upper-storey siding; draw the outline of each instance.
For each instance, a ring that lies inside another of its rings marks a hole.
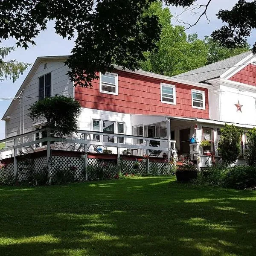
[[[99,74],[99,91],[118,95],[118,75],[113,73]]]

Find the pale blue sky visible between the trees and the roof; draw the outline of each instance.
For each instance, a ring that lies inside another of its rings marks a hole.
[[[198,0],[198,3],[205,4],[206,0]],[[221,20],[218,20],[215,14],[219,9],[230,9],[237,0],[213,0],[211,5],[209,6],[209,11],[207,16],[210,20],[210,23],[207,24],[207,20],[205,17],[198,22],[196,26],[188,29],[187,33],[195,33],[197,32],[200,38],[204,38],[205,35],[210,35],[211,32],[215,29],[218,29],[222,26]],[[172,14],[180,14],[183,11],[181,8],[170,7]],[[186,22],[193,23],[197,19],[198,16],[192,16],[189,11],[185,12],[180,18]],[[173,24],[179,24],[173,18]],[[253,44],[256,41],[256,33],[249,38],[249,44]],[[47,30],[45,32],[41,32],[41,34],[35,39],[36,46],[31,46],[29,49],[21,49],[18,48],[15,52],[8,56],[8,59],[16,59],[18,61],[33,63],[38,56],[49,56],[49,55],[69,55],[71,49],[73,48],[73,41],[67,41],[66,39],[61,38],[60,36],[55,34],[54,23],[50,22],[48,24]],[[3,41],[1,47],[3,46],[15,46],[15,41],[9,39],[7,41]],[[6,80],[0,83],[1,95],[0,98],[7,98],[15,96],[18,88],[22,84],[25,79],[27,70],[23,76],[20,77],[14,84],[12,81]],[[0,116],[3,116],[4,112],[8,108],[11,100],[1,100],[0,101]],[[5,137],[5,121],[0,121],[0,139]]]

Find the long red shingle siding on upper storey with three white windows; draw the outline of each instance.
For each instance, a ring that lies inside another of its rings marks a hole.
[[[208,90],[168,80],[154,79],[125,71],[118,73],[118,94],[110,95],[99,92],[99,81],[93,82],[92,88],[75,88],[75,99],[84,108],[114,111],[129,114],[186,116],[209,119]],[[176,86],[176,105],[162,103],[160,83]],[[206,109],[192,108],[191,89],[205,92]]]

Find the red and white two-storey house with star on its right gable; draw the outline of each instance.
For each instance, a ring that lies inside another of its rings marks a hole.
[[[199,160],[199,166],[218,159],[220,129],[225,123],[247,131],[256,125],[256,58],[251,52],[167,77],[142,70],[131,72],[115,66],[113,73],[99,74],[93,87],[74,87],[67,76],[64,61],[68,56],[38,57],[16,93],[3,120],[6,121],[6,146],[9,138],[37,131],[42,124],[33,124],[27,116],[32,102],[50,95],[64,94],[78,100],[82,111],[79,128],[93,134],[92,141],[103,143],[143,144],[143,139],[131,139],[113,134],[152,138],[150,146],[169,147],[178,151],[179,160],[189,155]],[[111,135],[112,134],[112,135]],[[26,142],[45,136],[38,131]],[[193,137],[196,142],[190,143]],[[166,141],[154,141],[154,139]],[[202,151],[200,142],[208,140],[208,151]],[[173,143],[176,141],[176,143]],[[241,159],[245,149],[245,133],[241,138]],[[100,143],[99,143],[100,144]],[[110,144],[108,144],[110,145]],[[43,148],[41,143],[38,147]],[[91,152],[101,153],[101,145],[90,145]],[[111,146],[108,146],[111,148]],[[116,149],[111,148],[113,153]],[[154,157],[163,157],[163,151],[152,151]],[[140,149],[132,150],[142,155]],[[6,153],[2,153],[6,157]]]

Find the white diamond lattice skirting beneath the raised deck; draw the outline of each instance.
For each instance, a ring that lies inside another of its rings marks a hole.
[[[147,174],[147,162],[137,162],[133,160],[120,160],[120,172],[122,175],[134,174],[134,175],[146,175]],[[106,178],[113,178],[118,175],[118,166],[116,160],[99,160],[95,158],[87,159],[87,179],[99,180]],[[52,156],[47,162],[47,157],[39,157],[32,160],[18,161],[17,163],[17,178],[18,180],[28,180],[31,177],[31,171],[40,173],[41,171],[49,169],[52,177],[54,178],[56,173],[61,170],[67,170],[70,168],[75,169],[74,180],[85,180],[84,173],[84,159],[80,157],[66,157],[66,156]],[[150,175],[170,175],[168,172],[166,163],[151,161],[149,165]],[[14,175],[14,163],[6,164],[4,169],[0,169],[0,178]]]

